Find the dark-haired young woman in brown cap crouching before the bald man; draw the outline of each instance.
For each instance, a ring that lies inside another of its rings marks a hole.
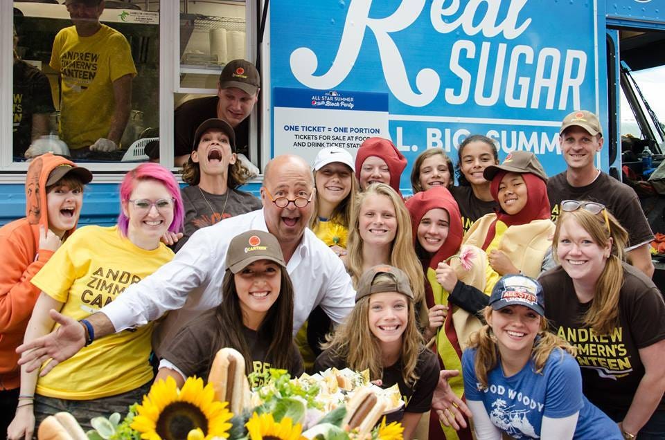
[[[240,351],[247,374],[271,367],[302,374],[292,340],[293,286],[277,239],[260,230],[243,232],[231,240],[226,266],[222,303],[166,344],[155,381],[172,376],[180,387],[189,376],[206,378],[224,347]]]

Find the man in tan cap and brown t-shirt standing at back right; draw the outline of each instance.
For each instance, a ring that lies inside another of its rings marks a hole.
[[[559,143],[568,167],[547,182],[552,220],[556,221],[559,215],[561,201],[573,199],[602,203],[628,230],[628,262],[651,277],[654,267],[649,243],[653,240],[653,232],[637,194],[631,187],[605,174],[594,164],[596,154],[603,147],[603,133],[598,117],[587,110],[570,113],[562,122]]]

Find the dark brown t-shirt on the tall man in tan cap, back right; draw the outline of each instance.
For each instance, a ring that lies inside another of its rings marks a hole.
[[[628,248],[636,248],[653,240],[653,232],[639,204],[635,190],[616,178],[601,172],[586,186],[574,187],[566,180],[566,172],[549,178],[547,196],[552,207],[552,221],[559,217],[560,203],[564,200],[588,200],[603,203],[619,223],[628,231]]]

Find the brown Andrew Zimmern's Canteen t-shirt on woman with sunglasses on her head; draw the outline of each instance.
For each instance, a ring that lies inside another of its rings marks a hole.
[[[592,302],[578,301],[572,279],[560,266],[538,281],[552,331],[578,349],[584,395],[608,414],[625,414],[644,376],[638,350],[665,339],[665,303],[658,288],[624,263],[619,326],[599,336],[580,324]],[[658,408],[665,409],[664,401]]]

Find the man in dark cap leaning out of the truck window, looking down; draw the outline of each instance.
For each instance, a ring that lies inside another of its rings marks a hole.
[[[254,64],[245,59],[233,59],[220,73],[217,95],[189,100],[175,109],[175,166],[186,163],[196,127],[210,118],[229,122],[236,132],[237,151],[247,155],[247,116],[258,100],[260,85],[260,75]]]

